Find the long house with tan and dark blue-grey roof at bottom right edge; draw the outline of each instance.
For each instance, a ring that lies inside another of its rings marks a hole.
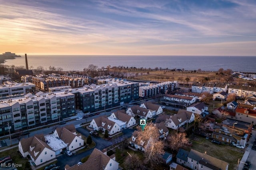
[[[180,149],[176,155],[177,163],[194,170],[228,170],[229,164],[208,154],[191,149]]]

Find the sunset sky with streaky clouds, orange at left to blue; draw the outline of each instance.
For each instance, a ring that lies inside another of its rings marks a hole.
[[[256,56],[255,0],[0,0],[0,53]]]

